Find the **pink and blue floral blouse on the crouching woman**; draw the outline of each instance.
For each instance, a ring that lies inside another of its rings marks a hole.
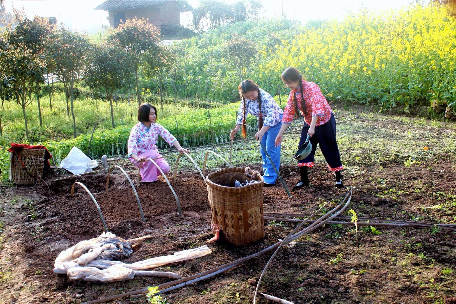
[[[140,155],[149,150],[156,150],[158,135],[165,139],[170,146],[176,140],[176,137],[172,136],[161,124],[150,124],[150,128],[147,128],[141,122],[135,124],[128,138],[128,156],[131,157],[132,154]]]

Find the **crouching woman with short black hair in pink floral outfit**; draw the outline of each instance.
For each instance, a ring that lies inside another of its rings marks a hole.
[[[148,161],[146,158],[151,159],[161,157],[157,149],[158,135],[160,135],[170,146],[176,147],[179,153],[190,152],[183,149],[177,139],[171,135],[161,124],[157,124],[157,109],[150,103],[143,103],[138,109],[139,123],[131,129],[130,137],[128,138],[128,157],[130,161],[135,162],[135,166],[139,167],[141,160],[143,165],[141,167],[141,177],[143,182],[150,182],[157,180],[157,175],[161,175],[155,165]],[[154,160],[155,163],[163,170],[164,173],[170,170],[170,166],[165,159],[159,158]]]

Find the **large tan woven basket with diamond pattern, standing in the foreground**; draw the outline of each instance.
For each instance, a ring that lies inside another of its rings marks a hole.
[[[236,246],[249,245],[264,237],[263,177],[259,175],[259,183],[244,187],[224,186],[234,185],[235,180],[252,180],[244,172],[244,168],[226,168],[206,176],[211,222]]]

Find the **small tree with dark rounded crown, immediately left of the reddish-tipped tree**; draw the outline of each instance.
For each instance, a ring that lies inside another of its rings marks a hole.
[[[119,46],[104,44],[93,49],[87,68],[87,81],[106,90],[114,124],[113,93],[120,88],[132,73],[130,55]]]

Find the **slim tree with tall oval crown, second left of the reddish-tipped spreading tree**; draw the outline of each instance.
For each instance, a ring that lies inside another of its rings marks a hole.
[[[65,91],[70,95],[74,137],[76,137],[76,117],[73,89],[76,82],[82,77],[89,46],[85,37],[77,32],[68,31],[63,26],[57,29],[50,44],[50,53],[55,62],[57,78],[63,82]]]

